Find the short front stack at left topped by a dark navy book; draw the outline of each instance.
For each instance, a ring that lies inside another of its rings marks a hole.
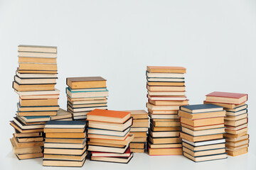
[[[49,121],[44,128],[43,166],[78,166],[87,155],[84,121]]]

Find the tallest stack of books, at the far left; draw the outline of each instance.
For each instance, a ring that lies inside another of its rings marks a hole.
[[[15,130],[11,144],[18,159],[43,157],[44,124],[59,110],[56,57],[57,47],[18,46],[19,67],[13,88],[19,102],[10,123]]]

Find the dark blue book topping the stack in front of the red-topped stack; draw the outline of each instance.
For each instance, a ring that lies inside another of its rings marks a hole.
[[[205,113],[214,111],[223,111],[223,107],[214,104],[198,104],[198,105],[187,105],[181,106],[181,111],[186,111],[188,113]]]

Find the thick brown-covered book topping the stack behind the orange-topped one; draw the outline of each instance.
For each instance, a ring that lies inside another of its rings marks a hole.
[[[102,77],[68,77],[67,85],[71,89],[105,88],[106,79]]]

